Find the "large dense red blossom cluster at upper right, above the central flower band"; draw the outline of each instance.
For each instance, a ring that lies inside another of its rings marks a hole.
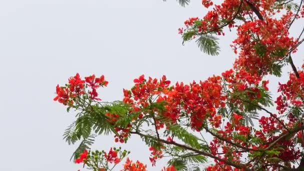
[[[280,19],[265,18],[239,26],[238,37],[232,45],[240,48],[234,67],[258,75],[271,74],[273,63],[281,60],[297,42],[288,35],[292,17],[292,13],[287,12]]]

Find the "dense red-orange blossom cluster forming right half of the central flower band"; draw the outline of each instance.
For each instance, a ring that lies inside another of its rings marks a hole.
[[[216,108],[223,107],[226,98],[221,90],[219,76],[209,77],[199,83],[193,81],[190,85],[177,82],[167,93],[168,106],[164,115],[170,116],[173,121],[176,121],[180,110],[184,110],[190,115],[190,123],[193,129],[200,130],[206,119],[214,127],[218,127],[221,116],[215,115]]]

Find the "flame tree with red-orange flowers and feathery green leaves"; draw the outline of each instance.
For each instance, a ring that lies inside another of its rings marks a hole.
[[[184,6],[189,0],[178,2]],[[120,147],[90,150],[95,136],[112,133],[117,143],[140,136],[152,165],[170,157],[163,170],[188,170],[186,163],[208,159],[214,162],[196,170],[304,170],[304,65],[299,69],[292,61],[304,27],[297,37],[289,35],[294,21],[304,17],[303,0],[221,2],[202,0],[210,10],[178,29],[184,42],[194,39],[210,55],[218,54],[223,28],[236,29],[230,47],[238,57],[221,75],[189,84],[141,75],[113,102],[98,98],[96,89],[108,84],[103,75],[81,79],[77,73],[56,86],[54,100],[77,113],[63,135],[69,144],[80,141],[74,162],[95,171],[146,170],[129,158],[118,164],[129,153]],[[272,100],[265,76],[280,77],[284,65],[291,65],[289,80],[278,83],[279,95]],[[270,111],[272,105],[276,111]]]

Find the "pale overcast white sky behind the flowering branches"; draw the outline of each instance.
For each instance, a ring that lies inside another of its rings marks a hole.
[[[104,74],[109,85],[100,96],[111,101],[140,74],[187,83],[230,68],[235,32],[220,37],[218,56],[193,42],[181,45],[177,28],[205,12],[200,0],[185,8],[175,0],[0,0],[0,170],[80,168],[69,162],[76,145],[62,140],[74,115],[52,101],[55,85],[76,72]],[[277,80],[270,85],[275,89]],[[93,149],[119,145],[111,137],[99,137]],[[164,164],[151,167],[138,137],[124,148],[149,170]]]

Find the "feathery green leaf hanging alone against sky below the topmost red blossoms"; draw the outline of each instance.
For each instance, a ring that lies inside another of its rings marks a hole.
[[[219,46],[218,42],[216,41],[218,38],[212,35],[200,35],[196,39],[196,43],[201,51],[207,53],[209,55],[218,55]]]

